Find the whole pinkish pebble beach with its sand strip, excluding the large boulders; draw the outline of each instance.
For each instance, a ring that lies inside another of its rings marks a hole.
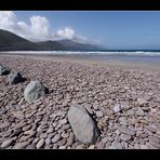
[[[0,148],[160,149],[160,66],[86,56],[0,55],[27,80],[0,76]],[[28,104],[24,90],[39,80],[49,94]],[[68,122],[83,105],[101,131],[94,144],[77,141]]]

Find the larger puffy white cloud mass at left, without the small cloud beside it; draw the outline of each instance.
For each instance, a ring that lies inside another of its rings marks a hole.
[[[25,22],[18,22],[14,12],[0,11],[0,28],[34,41],[51,38],[49,21],[42,16],[31,16],[30,24],[27,25]]]

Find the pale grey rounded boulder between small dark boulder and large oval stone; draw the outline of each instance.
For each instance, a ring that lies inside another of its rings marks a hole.
[[[31,103],[48,93],[48,89],[40,81],[31,81],[24,91],[24,97]]]

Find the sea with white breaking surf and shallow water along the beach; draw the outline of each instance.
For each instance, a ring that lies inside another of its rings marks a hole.
[[[0,54],[43,55],[43,56],[85,56],[101,61],[151,63],[160,65],[160,50],[103,50],[103,51],[4,51]]]

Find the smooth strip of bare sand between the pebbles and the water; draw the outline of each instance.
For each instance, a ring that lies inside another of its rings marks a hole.
[[[11,56],[11,57],[23,57],[23,58],[34,58],[34,59],[43,59],[52,62],[64,62],[64,63],[76,63],[86,66],[97,66],[97,67],[114,67],[129,70],[142,70],[142,71],[156,71],[159,72],[160,64],[154,63],[139,63],[139,62],[125,62],[120,59],[97,59],[89,55],[36,55],[36,54],[0,54],[0,56]]]

